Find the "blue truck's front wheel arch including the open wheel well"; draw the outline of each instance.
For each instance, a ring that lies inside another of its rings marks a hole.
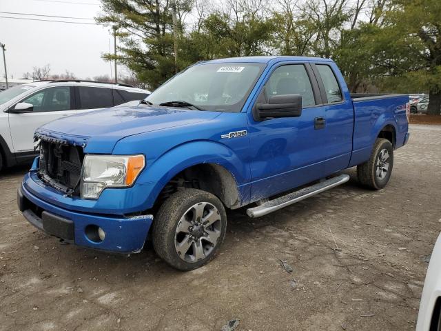
[[[139,178],[143,183],[155,182],[147,208],[155,208],[167,194],[181,188],[206,190],[231,209],[239,208],[249,199],[248,186],[243,185],[249,181],[249,167],[221,143],[192,141],[148,163],[147,157],[146,171]]]

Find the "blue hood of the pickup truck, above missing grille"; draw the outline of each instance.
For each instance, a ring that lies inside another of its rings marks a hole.
[[[152,106],[114,107],[57,119],[37,134],[85,146],[85,152],[111,153],[116,142],[141,134],[214,119],[220,112]]]

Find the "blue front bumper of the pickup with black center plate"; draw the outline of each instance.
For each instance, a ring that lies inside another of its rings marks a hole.
[[[21,185],[17,192],[19,210],[32,225],[76,245],[110,252],[139,252],[145,243],[152,215],[123,217],[74,212],[39,199]],[[105,232],[103,240],[90,234],[91,228]]]

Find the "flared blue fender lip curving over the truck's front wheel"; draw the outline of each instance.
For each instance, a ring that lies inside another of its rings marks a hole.
[[[179,172],[201,163],[221,165],[236,181],[240,199],[247,199],[249,167],[238,155],[222,143],[214,141],[192,141],[183,143],[158,157],[147,166],[140,182],[155,182],[147,198],[147,208],[151,208],[164,186]],[[243,202],[243,201],[242,201]]]

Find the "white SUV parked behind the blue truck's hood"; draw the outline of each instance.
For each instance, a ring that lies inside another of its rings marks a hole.
[[[0,170],[31,161],[34,132],[45,123],[79,112],[143,100],[150,92],[125,84],[35,81],[0,92]]]

